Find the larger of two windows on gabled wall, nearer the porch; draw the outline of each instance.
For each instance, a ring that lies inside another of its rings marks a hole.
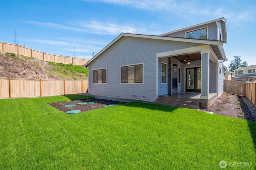
[[[143,83],[143,65],[121,66],[121,83]]]

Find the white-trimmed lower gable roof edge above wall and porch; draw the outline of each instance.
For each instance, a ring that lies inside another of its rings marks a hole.
[[[116,39],[109,43],[104,49],[102,49],[98,54],[96,54],[88,63],[84,64],[84,67],[88,66],[94,59],[96,59],[101,53],[113,45],[122,37],[139,37],[139,38],[148,38],[148,39],[158,39],[158,40],[168,40],[168,41],[178,41],[186,43],[200,43],[208,44],[212,47],[214,53],[216,53],[219,60],[226,60],[226,55],[223,49],[223,41],[209,40],[209,39],[191,39],[191,38],[181,38],[181,37],[169,37],[169,36],[160,36],[160,35],[143,35],[143,34],[132,34],[132,33],[121,33]]]

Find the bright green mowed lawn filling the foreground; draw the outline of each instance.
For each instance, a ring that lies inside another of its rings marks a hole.
[[[81,98],[1,99],[0,169],[256,168],[256,123],[140,102],[74,115],[48,105]]]

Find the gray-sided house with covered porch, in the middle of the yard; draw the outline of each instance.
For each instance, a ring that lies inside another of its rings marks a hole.
[[[84,65],[88,92],[208,108],[223,92],[226,42],[224,18],[161,35],[121,33]]]

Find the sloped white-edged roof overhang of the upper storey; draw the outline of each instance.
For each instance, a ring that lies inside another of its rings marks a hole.
[[[223,37],[223,42],[224,43],[227,43],[227,28],[226,28],[226,20],[225,18],[219,18],[219,19],[216,19],[216,20],[211,20],[211,21],[207,21],[207,22],[204,22],[204,23],[199,23],[199,24],[196,24],[196,25],[192,25],[192,26],[189,26],[189,27],[185,27],[185,28],[182,28],[182,29],[178,29],[178,30],[175,30],[175,31],[170,31],[168,33],[163,33],[163,34],[160,34],[161,36],[164,36],[164,35],[168,35],[170,33],[176,33],[178,31],[183,31],[183,30],[186,30],[186,29],[193,29],[194,27],[199,27],[201,25],[206,25],[206,24],[209,24],[209,23],[213,23],[213,22],[218,22],[218,21],[221,21],[222,24],[224,24],[224,27],[222,27],[222,37]]]

